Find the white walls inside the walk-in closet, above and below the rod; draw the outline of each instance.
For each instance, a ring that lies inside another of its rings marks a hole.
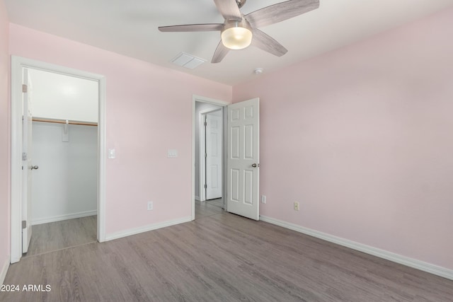
[[[98,122],[98,83],[29,69],[33,117]],[[98,127],[33,122],[32,223],[97,214]],[[66,141],[64,141],[66,140]]]

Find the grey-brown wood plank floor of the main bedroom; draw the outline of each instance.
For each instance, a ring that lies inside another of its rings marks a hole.
[[[224,211],[25,257],[0,301],[453,301],[453,281]]]

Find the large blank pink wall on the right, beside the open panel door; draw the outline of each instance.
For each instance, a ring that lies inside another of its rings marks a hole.
[[[260,214],[453,269],[452,37],[449,9],[235,86],[261,100]]]

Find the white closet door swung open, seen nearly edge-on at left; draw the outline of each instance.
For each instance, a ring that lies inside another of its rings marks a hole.
[[[31,81],[27,69],[23,69],[23,127],[22,127],[22,252],[28,251],[31,239],[31,201],[32,201],[32,182],[33,170],[38,166],[33,166],[32,149],[32,106],[31,106]]]

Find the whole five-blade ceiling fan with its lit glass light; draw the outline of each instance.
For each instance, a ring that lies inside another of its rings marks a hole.
[[[161,26],[161,32],[220,31],[221,41],[212,57],[212,63],[219,63],[229,50],[241,50],[253,45],[277,57],[287,53],[287,49],[258,28],[285,21],[319,8],[319,0],[289,0],[243,15],[241,8],[246,0],[214,0],[224,23],[185,24]]]

